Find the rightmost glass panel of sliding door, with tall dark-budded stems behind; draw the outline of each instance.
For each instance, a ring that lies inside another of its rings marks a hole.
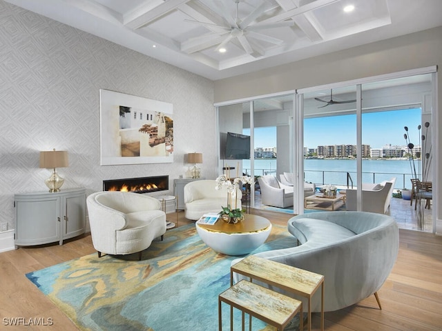
[[[391,185],[387,199],[370,200],[371,207],[362,199],[362,208],[390,214],[403,228],[432,231],[432,201],[423,208],[418,201],[418,210],[413,190],[416,179],[432,186],[431,159],[425,157],[432,145],[431,128],[425,128],[432,117],[432,74],[365,83],[362,90],[361,130],[370,151],[362,164],[363,185]]]

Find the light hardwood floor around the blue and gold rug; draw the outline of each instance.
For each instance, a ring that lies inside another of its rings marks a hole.
[[[252,212],[282,225],[292,216],[265,210]],[[168,219],[175,221],[176,215],[169,215]],[[193,223],[184,218],[183,212],[177,218],[179,226]],[[378,309],[371,296],[343,310],[325,313],[325,330],[442,330],[442,237],[403,229],[399,230],[399,237],[396,265],[378,291],[383,310]],[[93,252],[90,235],[84,235],[61,246],[43,245],[0,253],[0,330],[77,330],[25,274]],[[46,322],[52,319],[53,325],[5,325],[12,318],[41,318]],[[319,322],[319,314],[314,314],[312,330],[319,330]],[[213,325],[216,329],[217,325]]]

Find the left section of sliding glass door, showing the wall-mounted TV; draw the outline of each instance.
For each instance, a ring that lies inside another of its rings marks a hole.
[[[267,199],[269,190],[261,188],[258,178],[273,178],[278,184],[280,175],[292,171],[294,94],[245,101],[228,106],[218,106],[218,129],[220,132],[220,170],[229,177],[248,174],[256,179],[251,194],[255,208],[293,212],[293,194],[290,202],[278,203]],[[249,137],[250,153],[239,158],[227,152],[226,141],[230,133]],[[293,183],[288,183],[293,192]],[[281,188],[281,190],[283,190]],[[264,199],[264,201],[263,201]],[[287,199],[286,199],[287,200]]]

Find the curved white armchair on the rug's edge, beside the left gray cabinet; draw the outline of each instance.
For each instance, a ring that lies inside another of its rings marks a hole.
[[[133,192],[96,192],[88,196],[90,234],[98,257],[102,253],[132,254],[163,238],[166,214],[153,197]]]

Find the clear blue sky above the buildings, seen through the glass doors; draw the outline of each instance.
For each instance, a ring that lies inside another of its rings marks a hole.
[[[403,146],[405,145],[404,126],[407,126],[411,141],[417,145],[419,143],[417,126],[420,123],[420,108],[363,114],[362,141],[371,148],[381,148],[389,143]],[[255,130],[255,147],[276,146],[275,127]],[[318,145],[356,145],[356,115],[306,119],[304,132],[304,146],[307,148],[316,148]],[[244,134],[250,134],[250,130],[244,130]]]

